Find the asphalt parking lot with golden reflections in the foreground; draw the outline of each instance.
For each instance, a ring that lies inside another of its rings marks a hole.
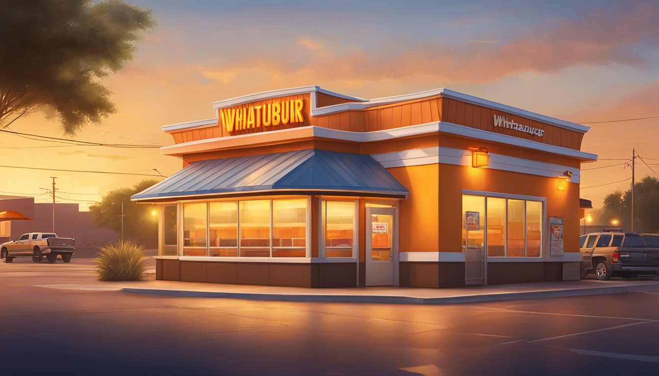
[[[87,287],[52,288],[75,284]],[[654,375],[659,369],[653,291],[418,306],[152,296],[105,286],[96,281],[93,258],[0,263],[3,373]]]

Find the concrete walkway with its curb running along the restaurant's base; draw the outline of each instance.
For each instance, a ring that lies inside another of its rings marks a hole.
[[[596,281],[594,279],[570,282],[469,286],[463,288],[409,288],[393,286],[297,288],[154,280],[105,282],[103,286],[113,290],[121,289],[124,292],[136,294],[190,296],[197,298],[389,304],[460,304],[565,296],[621,294],[624,292],[659,292],[659,280]],[[98,288],[100,286],[95,285],[94,287]]]

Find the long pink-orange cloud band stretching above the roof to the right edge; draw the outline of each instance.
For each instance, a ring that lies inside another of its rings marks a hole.
[[[521,72],[556,73],[579,65],[641,66],[645,61],[633,47],[651,40],[656,43],[657,19],[657,5],[638,5],[627,13],[601,11],[583,19],[538,27],[507,42],[387,43],[376,52],[337,51],[301,37],[283,51],[281,46],[276,51],[246,46],[234,59],[200,69],[205,78],[223,84],[257,75],[272,84],[295,77],[303,82],[358,85],[429,79],[490,82]]]

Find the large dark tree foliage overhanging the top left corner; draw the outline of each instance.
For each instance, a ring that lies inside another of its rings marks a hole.
[[[0,128],[42,109],[72,134],[115,112],[100,78],[153,25],[151,11],[119,0],[0,0]]]

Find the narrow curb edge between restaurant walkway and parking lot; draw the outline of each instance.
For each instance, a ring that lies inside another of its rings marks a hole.
[[[160,296],[183,296],[189,298],[226,298],[243,300],[276,300],[281,302],[326,302],[326,303],[380,303],[380,304],[465,304],[483,302],[504,302],[507,300],[528,300],[546,298],[565,298],[570,296],[592,296],[606,294],[624,294],[659,290],[656,285],[614,286],[595,288],[575,288],[570,290],[548,290],[530,292],[509,292],[502,294],[481,294],[467,296],[446,296],[440,298],[415,298],[413,296],[391,295],[337,295],[337,294],[250,294],[248,292],[211,292],[194,290],[163,290],[157,288],[125,287],[123,292],[130,294],[150,294]]]

